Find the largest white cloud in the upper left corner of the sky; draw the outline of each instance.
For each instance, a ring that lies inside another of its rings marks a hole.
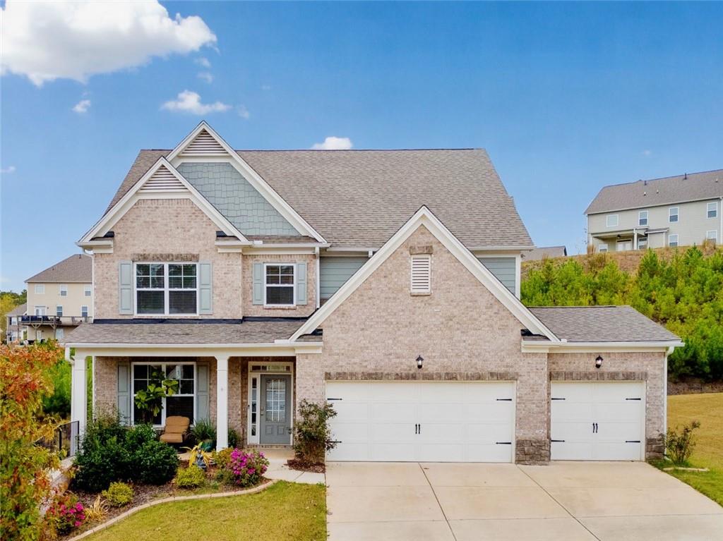
[[[156,0],[7,0],[0,20],[0,73],[25,75],[38,86],[54,79],[85,82],[216,42],[200,17],[171,19]]]

